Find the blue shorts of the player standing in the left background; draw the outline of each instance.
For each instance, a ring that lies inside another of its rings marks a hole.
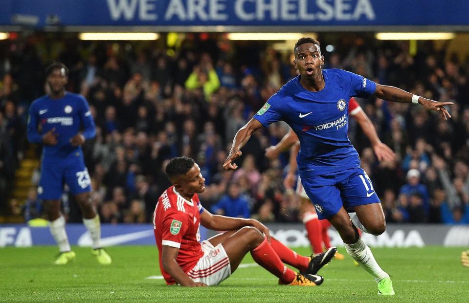
[[[41,200],[61,199],[65,184],[72,195],[91,191],[91,179],[81,153],[72,153],[63,159],[43,157],[38,198]]]

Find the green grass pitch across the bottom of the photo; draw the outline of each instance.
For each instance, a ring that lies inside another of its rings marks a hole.
[[[394,297],[378,296],[375,281],[349,256],[319,272],[325,278],[319,287],[278,286],[275,277],[255,266],[239,268],[219,286],[183,288],[145,279],[160,275],[156,247],[111,247],[110,266],[99,265],[88,248],[73,249],[76,261],[55,266],[56,247],[1,248],[0,301],[469,302],[469,269],[461,266],[461,248],[373,249],[391,275]],[[250,255],[243,263],[253,263]]]

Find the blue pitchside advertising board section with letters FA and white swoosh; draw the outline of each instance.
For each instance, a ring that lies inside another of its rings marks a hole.
[[[66,225],[71,245],[91,246],[91,237],[83,224]],[[201,226],[201,239],[206,239],[206,229]],[[113,245],[155,245],[152,224],[101,224],[101,244]],[[21,224],[0,226],[0,247],[30,247],[35,245],[56,245],[48,227],[30,227]]]

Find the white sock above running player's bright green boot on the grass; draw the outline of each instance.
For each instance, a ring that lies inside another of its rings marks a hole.
[[[389,275],[383,271],[373,257],[370,248],[363,242],[361,238],[355,244],[346,244],[345,250],[354,258],[368,273],[370,273],[377,282],[384,278],[389,278]]]

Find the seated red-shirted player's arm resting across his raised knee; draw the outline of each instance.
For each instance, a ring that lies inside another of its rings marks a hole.
[[[230,216],[213,215],[206,209],[201,213],[201,224],[203,227],[218,230],[229,231],[243,228],[245,226],[252,226],[257,228],[261,233],[266,235],[268,242],[270,242],[270,233],[267,226],[255,219],[234,218]]]

